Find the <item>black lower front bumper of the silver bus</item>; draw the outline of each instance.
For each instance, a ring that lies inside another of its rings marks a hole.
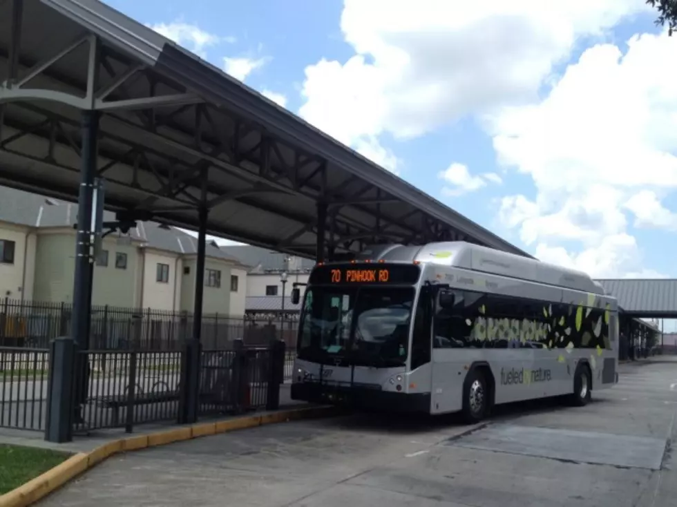
[[[292,399],[355,408],[430,413],[430,393],[406,394],[319,383],[292,383]]]

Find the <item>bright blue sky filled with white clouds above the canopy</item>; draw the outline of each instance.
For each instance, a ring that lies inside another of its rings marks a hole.
[[[677,37],[644,0],[108,0],[471,220],[677,277]]]

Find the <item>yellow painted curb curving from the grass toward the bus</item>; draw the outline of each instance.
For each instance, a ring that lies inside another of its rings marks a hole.
[[[10,492],[0,496],[0,507],[26,507],[34,504],[50,492],[60,488],[66,482],[93,468],[104,459],[120,452],[140,450],[155,446],[164,446],[167,443],[207,437],[213,434],[256,428],[256,426],[285,421],[298,421],[298,419],[312,419],[337,414],[334,407],[310,407],[296,408],[292,410],[280,410],[271,414],[251,415],[229,419],[228,421],[216,421],[216,423],[197,423],[182,428],[172,428],[157,433],[138,435],[104,443],[90,452],[78,452],[66,459],[63,463],[47,470],[44,474],[28,481]]]

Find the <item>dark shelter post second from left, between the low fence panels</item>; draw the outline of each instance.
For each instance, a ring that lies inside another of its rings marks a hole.
[[[207,178],[206,175],[202,176]],[[204,300],[204,258],[207,254],[207,218],[209,210],[204,205],[198,209],[198,258],[195,267],[195,295],[193,298],[193,335],[186,343],[186,357],[182,363],[182,380],[185,386],[182,395],[181,423],[198,420],[200,398],[200,356],[202,355],[202,302]]]

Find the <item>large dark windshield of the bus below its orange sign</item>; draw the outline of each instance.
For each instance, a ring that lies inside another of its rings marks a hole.
[[[413,301],[412,287],[310,287],[298,357],[328,364],[404,365]]]

